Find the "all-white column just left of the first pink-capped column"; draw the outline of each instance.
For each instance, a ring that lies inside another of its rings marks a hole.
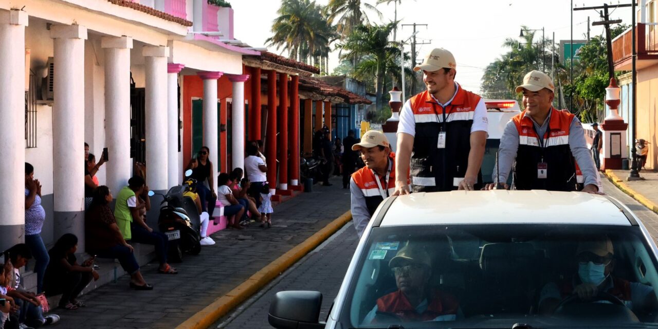
[[[167,57],[168,47],[144,46],[146,178],[151,190],[168,190],[167,143]]]

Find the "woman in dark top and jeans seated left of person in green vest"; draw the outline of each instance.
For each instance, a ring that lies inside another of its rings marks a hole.
[[[132,245],[124,240],[110,209],[112,193],[107,186],[93,191],[91,206],[85,215],[86,250],[101,258],[118,259],[121,267],[130,274],[130,287],[136,290],[152,290],[139,272],[139,265]]]

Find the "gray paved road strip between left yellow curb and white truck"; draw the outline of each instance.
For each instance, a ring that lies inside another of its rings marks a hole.
[[[320,291],[322,293],[320,320],[324,321],[338,295],[338,289],[358,243],[357,232],[349,222],[330,240],[238,307],[236,314],[222,318],[217,328],[271,329],[272,326],[267,322],[270,301],[278,291],[284,290]]]

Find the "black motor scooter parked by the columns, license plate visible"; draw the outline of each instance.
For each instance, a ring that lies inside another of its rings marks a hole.
[[[188,172],[186,176],[190,176],[191,170]],[[183,253],[198,255],[201,252],[201,220],[193,201],[183,197],[185,188],[185,184],[174,186],[163,195],[161,204],[166,202],[166,205],[160,208],[158,218],[160,232],[169,239],[168,259],[172,263],[182,262]],[[149,191],[149,195],[153,194]]]

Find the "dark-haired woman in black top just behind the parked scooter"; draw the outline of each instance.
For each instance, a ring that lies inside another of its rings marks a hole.
[[[201,210],[208,213],[208,215],[213,216],[213,211],[215,211],[215,203],[217,202],[217,194],[215,193],[215,186],[213,178],[213,163],[208,159],[210,155],[210,149],[207,146],[202,146],[197,153],[197,158],[192,158],[188,168],[191,169],[192,174],[190,178],[197,180],[197,193],[201,197]],[[185,179],[183,179],[185,180]],[[206,186],[204,183],[207,182]],[[206,202],[208,203],[206,205]]]

